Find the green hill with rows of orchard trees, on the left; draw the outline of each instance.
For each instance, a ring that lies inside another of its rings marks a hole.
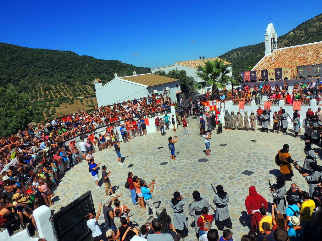
[[[79,56],[71,51],[31,49],[0,43],[0,85],[14,86],[31,101],[33,120],[90,109],[97,104],[93,80],[151,73],[118,60]],[[81,99],[83,98],[83,99]]]

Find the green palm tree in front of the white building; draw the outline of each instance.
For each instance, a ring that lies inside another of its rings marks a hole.
[[[224,64],[224,60],[216,58],[214,61],[207,60],[204,65],[198,67],[196,75],[202,79],[194,85],[195,90],[204,89],[206,86],[212,85],[212,97],[219,98],[219,88],[223,89],[227,84],[238,84],[237,80],[232,79],[228,74],[231,70],[229,65]]]

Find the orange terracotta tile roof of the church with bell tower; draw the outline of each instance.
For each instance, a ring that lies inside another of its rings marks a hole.
[[[257,70],[257,79],[261,79],[261,69],[290,67],[290,77],[297,77],[297,66],[316,65],[322,63],[322,41],[276,49],[265,56],[252,70]]]

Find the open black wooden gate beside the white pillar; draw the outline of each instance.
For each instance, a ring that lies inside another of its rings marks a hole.
[[[88,191],[52,216],[58,241],[92,241],[85,214],[95,214],[91,192]]]

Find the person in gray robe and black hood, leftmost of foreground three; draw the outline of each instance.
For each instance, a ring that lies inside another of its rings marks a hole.
[[[170,208],[174,211],[172,224],[175,231],[180,233],[183,238],[188,235],[188,222],[183,211],[185,202],[186,200],[180,192],[174,192],[173,198],[170,200]]]

